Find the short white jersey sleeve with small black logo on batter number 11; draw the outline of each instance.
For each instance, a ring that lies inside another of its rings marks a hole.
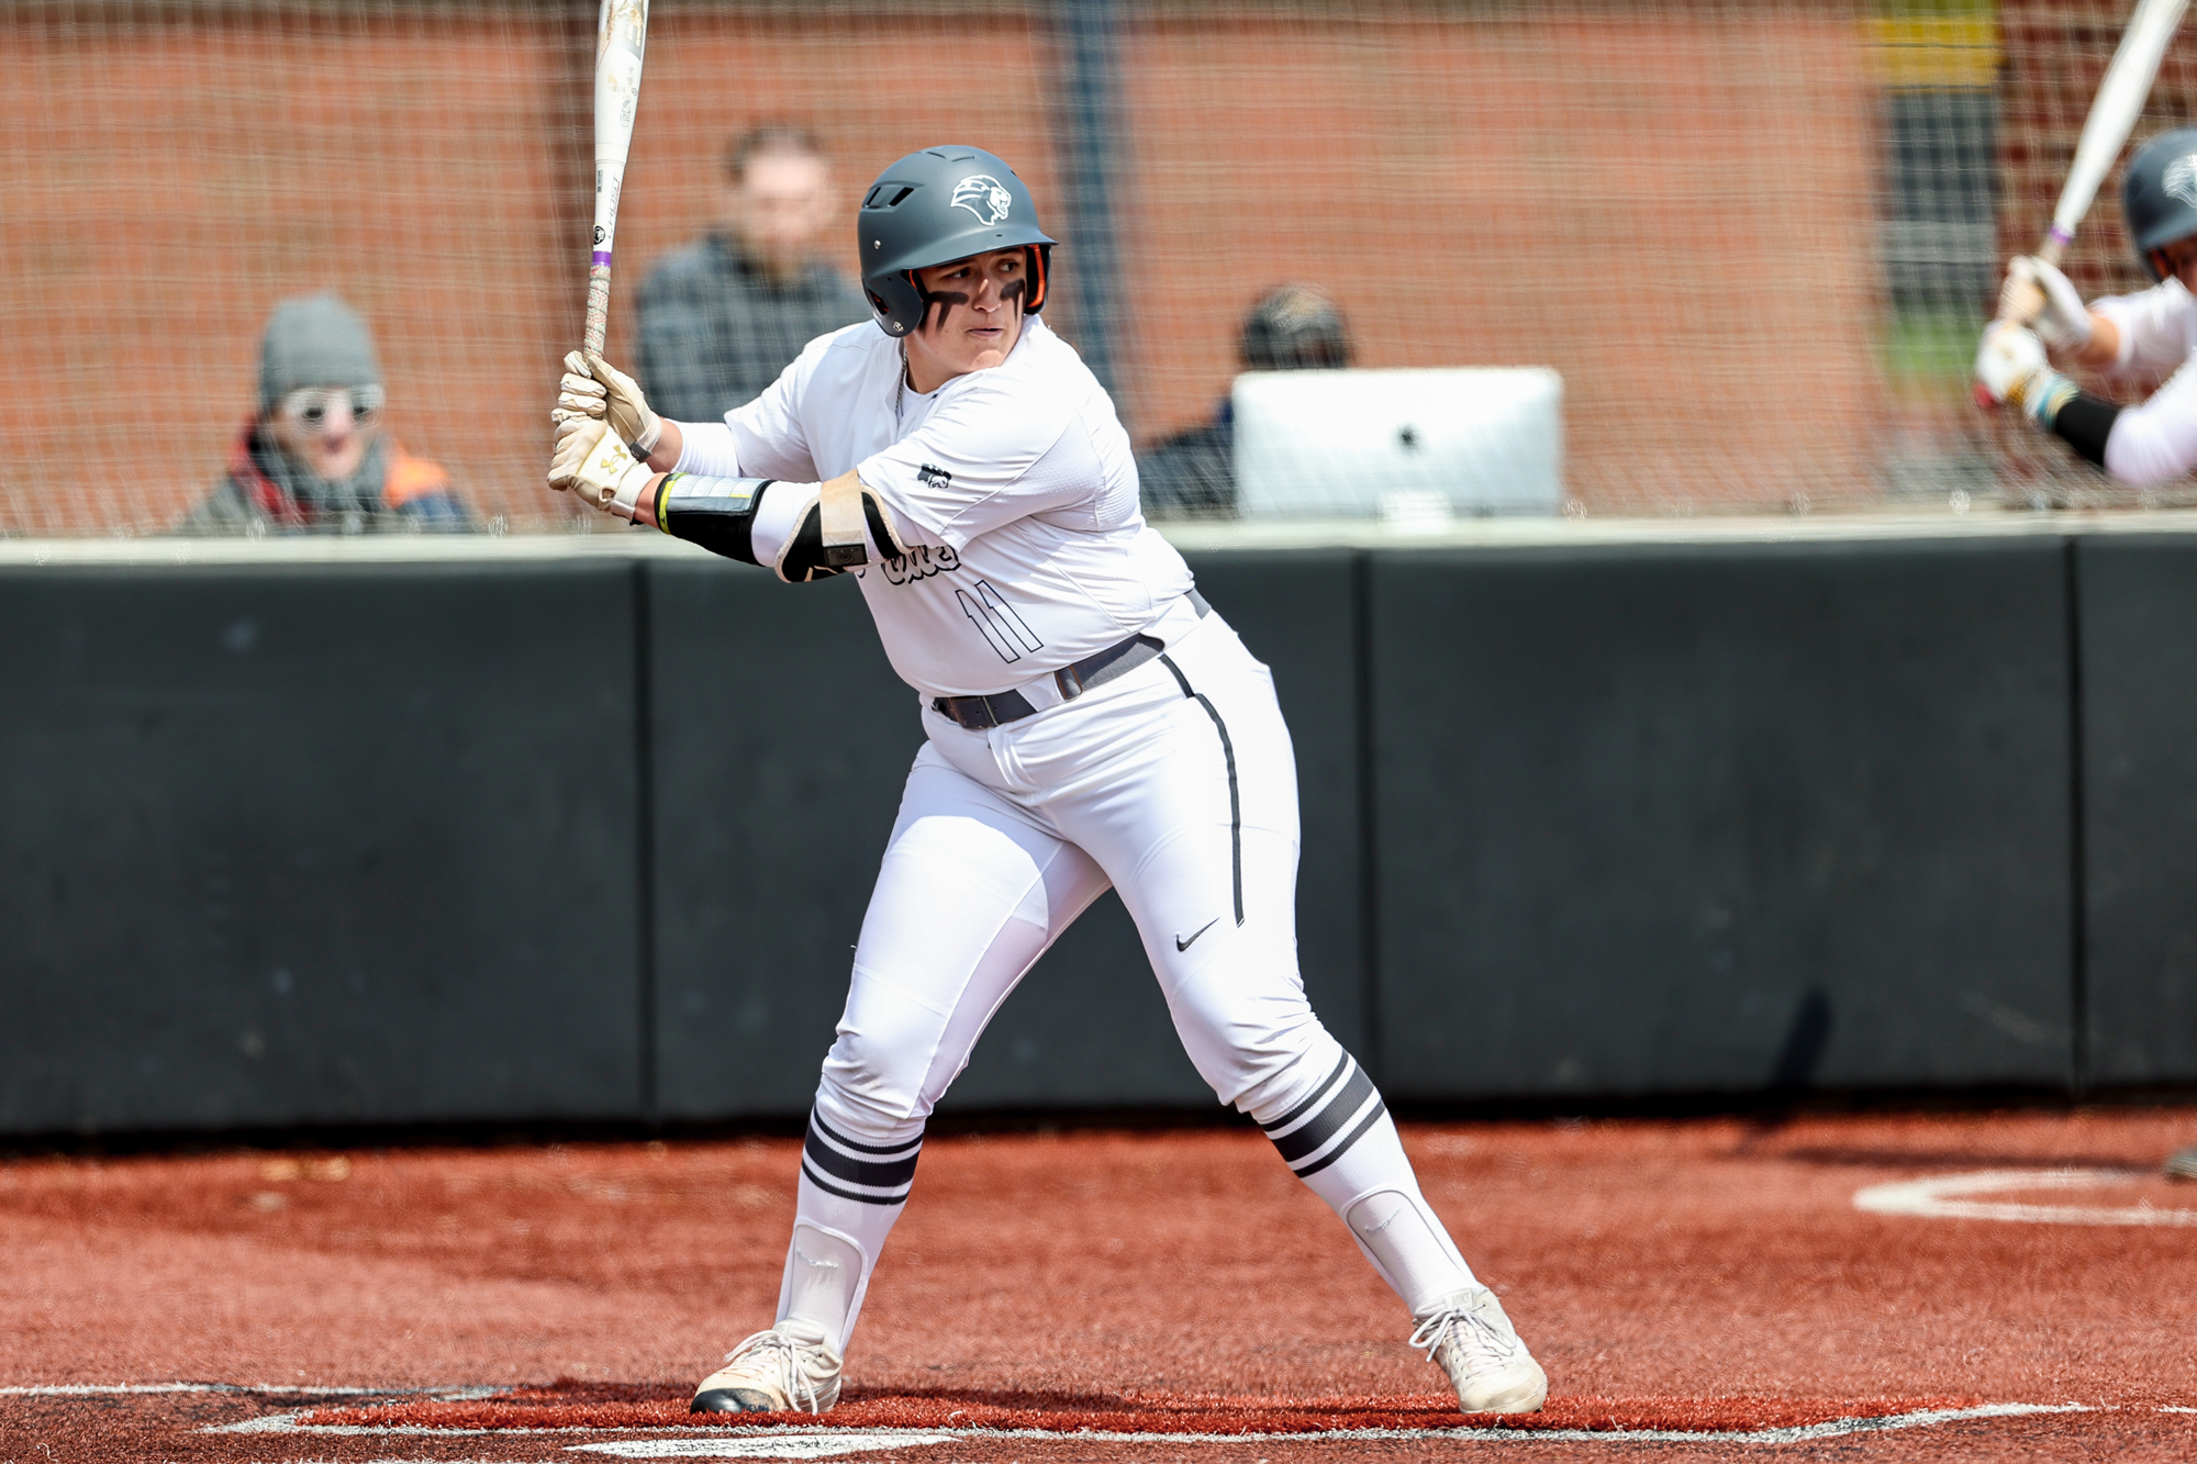
[[[1061,404],[967,378],[914,433],[859,464],[918,539],[967,550],[969,541],[1092,495],[1098,457]]]

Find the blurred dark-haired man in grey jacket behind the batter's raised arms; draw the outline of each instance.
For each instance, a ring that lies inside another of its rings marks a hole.
[[[740,134],[725,178],[718,226],[657,264],[637,297],[635,365],[670,422],[716,422],[762,396],[804,345],[870,319],[861,290],[817,253],[844,209],[806,127]]]

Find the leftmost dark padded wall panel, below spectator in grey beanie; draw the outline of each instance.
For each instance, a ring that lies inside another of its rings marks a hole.
[[[0,1128],[635,1114],[633,580],[0,576]]]

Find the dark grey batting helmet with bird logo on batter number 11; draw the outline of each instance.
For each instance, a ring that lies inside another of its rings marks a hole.
[[[855,215],[861,288],[888,336],[923,323],[916,270],[993,248],[1026,244],[1030,292],[1024,314],[1046,308],[1052,244],[1015,169],[982,147],[925,147],[877,176]]]

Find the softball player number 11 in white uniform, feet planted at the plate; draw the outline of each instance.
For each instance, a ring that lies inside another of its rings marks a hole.
[[[1200,1075],[1342,1216],[1461,1407],[1538,1409],[1547,1376],[1305,1000],[1296,765],[1272,677],[1145,523],[1114,404],[1037,317],[1052,240],[1028,189],[975,147],[916,152],[863,193],[857,246],[877,323],[819,336],[723,422],[663,422],[580,356],[554,413],[551,486],[787,580],[857,574],[923,695],[927,743],[817,1084],[778,1319],[694,1409],[837,1400],[925,1119],[1107,886]]]

